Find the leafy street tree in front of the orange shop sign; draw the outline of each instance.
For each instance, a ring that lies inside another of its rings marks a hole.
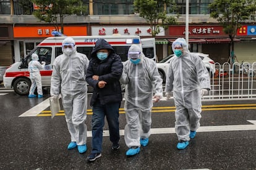
[[[82,0],[31,0],[38,9],[34,10],[33,15],[41,21],[53,23],[55,29],[64,33],[64,17],[67,15],[85,15],[88,12],[87,6],[83,5]]]

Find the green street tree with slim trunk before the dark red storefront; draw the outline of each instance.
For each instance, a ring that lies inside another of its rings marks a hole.
[[[245,20],[254,20],[256,11],[255,0],[214,0],[210,7],[210,17],[215,18],[223,31],[231,39],[229,62],[234,63],[234,38],[236,38],[237,29],[241,28]]]

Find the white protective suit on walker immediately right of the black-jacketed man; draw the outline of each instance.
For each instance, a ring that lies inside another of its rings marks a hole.
[[[127,124],[124,129],[124,139],[127,147],[140,147],[140,137],[150,136],[151,108],[153,107],[153,92],[155,96],[163,97],[163,80],[161,79],[156,62],[148,59],[140,47],[132,45],[129,52],[141,52],[140,62],[134,65],[127,60],[124,62],[120,79],[126,84],[124,110]]]

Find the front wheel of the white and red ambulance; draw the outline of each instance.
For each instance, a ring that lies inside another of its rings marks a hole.
[[[31,82],[28,78],[17,78],[14,81],[14,91],[19,95],[28,95]]]

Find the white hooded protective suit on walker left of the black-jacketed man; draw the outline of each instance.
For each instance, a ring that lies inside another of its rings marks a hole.
[[[64,51],[65,46],[72,46]],[[62,52],[54,60],[51,76],[51,96],[58,97],[61,92],[62,105],[65,111],[67,128],[71,142],[77,145],[87,143],[87,82],[85,81],[89,60],[77,52],[75,41],[66,38],[62,42]]]

